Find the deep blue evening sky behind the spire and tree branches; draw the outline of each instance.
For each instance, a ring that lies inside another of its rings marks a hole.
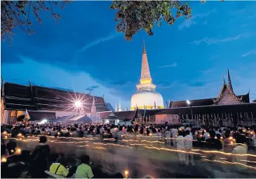
[[[130,107],[140,80],[142,40],[156,91],[177,101],[216,97],[227,79],[236,94],[256,99],[255,1],[199,1],[190,3],[194,17],[172,26],[154,28],[154,36],[140,31],[125,41],[115,31],[109,1],[76,1],[57,10],[55,24],[42,13],[34,22],[36,34],[16,29],[13,42],[1,41],[1,76],[12,83],[74,89],[102,96]]]

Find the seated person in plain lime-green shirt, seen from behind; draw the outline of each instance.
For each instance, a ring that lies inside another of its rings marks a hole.
[[[90,157],[81,157],[81,164],[76,169],[76,178],[93,178],[93,171],[90,168]]]

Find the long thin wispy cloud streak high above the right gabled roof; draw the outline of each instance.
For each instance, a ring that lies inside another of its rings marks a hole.
[[[206,43],[208,45],[216,44],[216,43],[225,43],[229,41],[237,41],[241,38],[248,38],[252,36],[253,34],[239,34],[237,36],[227,37],[227,38],[203,38],[198,41],[193,41],[190,44],[200,45],[201,43]]]

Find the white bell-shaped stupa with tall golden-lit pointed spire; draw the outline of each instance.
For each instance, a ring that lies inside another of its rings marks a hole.
[[[136,85],[137,92],[133,94],[130,101],[130,110],[139,109],[157,109],[163,107],[163,97],[156,92],[156,85],[152,83],[147,61],[147,52],[143,41],[142,69],[140,84]]]

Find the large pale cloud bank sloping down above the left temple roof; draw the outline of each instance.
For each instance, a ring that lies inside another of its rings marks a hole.
[[[2,64],[1,75],[4,76],[4,80],[12,83],[13,76],[19,76],[18,82],[15,83],[28,85],[27,79],[29,79],[34,85],[70,89],[76,92],[88,92],[86,88],[93,87],[91,94],[95,96],[105,94],[105,101],[111,103],[112,106],[116,101],[121,101],[122,106],[130,106],[130,101],[117,94],[116,89],[102,85],[86,72],[72,73],[61,69],[59,66],[41,64],[25,57],[21,59],[22,63],[20,64]],[[24,71],[24,69],[29,70]]]

